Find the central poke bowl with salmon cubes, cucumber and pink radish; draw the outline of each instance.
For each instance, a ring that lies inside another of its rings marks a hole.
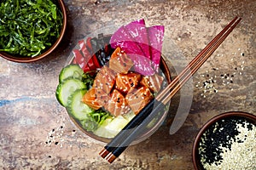
[[[145,28],[142,22],[144,20],[136,20],[126,26],[132,29],[142,26]],[[163,31],[163,27],[160,28],[153,29]],[[73,48],[67,65],[61,70],[56,89],[56,98],[66,107],[71,122],[92,139],[103,143],[113,139],[171,82],[169,67],[158,47],[154,45],[155,48],[149,50],[150,56],[153,51],[157,56],[154,59],[134,54],[135,47],[151,46],[138,41],[127,41],[127,37],[125,40],[116,40],[117,35],[122,37],[124,34],[120,29],[123,28],[120,27],[113,34],[100,33],[96,37],[84,37],[80,40]],[[152,42],[156,39],[154,36],[150,38]],[[127,49],[131,47],[132,53]],[[148,123],[143,134],[132,144],[148,139],[160,127],[165,121],[169,105],[170,103]]]

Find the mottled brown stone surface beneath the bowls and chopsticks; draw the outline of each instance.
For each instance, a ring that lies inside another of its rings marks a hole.
[[[205,122],[226,111],[256,114],[255,1],[64,2],[67,34],[53,54],[30,64],[0,59],[1,169],[193,169],[192,144]],[[98,156],[103,144],[73,126],[55,99],[58,74],[68,55],[79,39],[93,31],[141,18],[148,26],[166,26],[170,43],[165,44],[164,54],[175,77],[236,15],[241,23],[193,81],[173,97],[162,127],[111,165]],[[189,105],[189,116],[170,135],[172,120],[183,105]]]

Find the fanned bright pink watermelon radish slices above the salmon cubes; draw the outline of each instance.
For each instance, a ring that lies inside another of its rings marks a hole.
[[[146,27],[143,19],[135,20],[119,27],[110,44],[125,51],[134,62],[135,71],[150,76],[159,68],[164,31],[164,26]]]

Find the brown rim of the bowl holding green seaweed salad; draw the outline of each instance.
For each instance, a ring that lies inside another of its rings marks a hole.
[[[5,52],[0,52],[0,56],[3,57],[4,59],[8,59],[9,61],[14,61],[18,63],[30,63],[33,61],[37,61],[39,59],[43,59],[44,57],[52,53],[55,50],[55,48],[60,44],[62,38],[64,37],[65,31],[67,29],[67,11],[66,11],[65,4],[63,3],[62,0],[57,0],[55,2],[58,3],[59,8],[61,9],[61,13],[63,14],[63,20],[62,20],[63,24],[60,32],[60,37],[57,38],[55,43],[47,51],[35,57],[15,57],[12,54],[8,54]]]

